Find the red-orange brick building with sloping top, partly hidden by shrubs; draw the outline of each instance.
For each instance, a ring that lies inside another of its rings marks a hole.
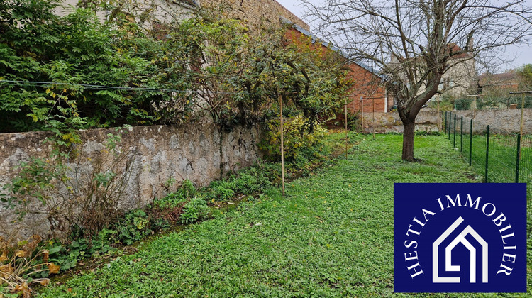
[[[284,23],[291,23],[289,20],[283,21]],[[312,33],[297,24],[292,24],[288,29],[286,38],[293,43],[312,43],[316,50],[323,53],[333,50],[343,56],[340,49],[321,42]],[[351,113],[358,111],[364,113],[387,112],[392,108],[394,102],[387,94],[382,75],[360,62],[348,62],[345,66],[350,70],[348,76],[354,81],[354,85],[348,93],[348,110]]]

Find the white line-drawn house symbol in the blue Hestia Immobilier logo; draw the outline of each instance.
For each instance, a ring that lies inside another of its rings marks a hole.
[[[448,282],[448,283],[460,283],[460,277],[439,277],[438,276],[438,247],[440,244],[445,241],[446,238],[450,235],[450,233],[453,233],[458,226],[460,226],[460,223],[462,223],[464,219],[462,219],[462,216],[458,217],[458,219],[450,225],[443,234],[441,234],[434,243],[432,243],[432,282],[435,283],[442,283],[442,282]],[[488,282],[488,270],[487,270],[487,263],[488,263],[488,244],[480,235],[473,229],[471,226],[467,226],[461,233],[458,235],[447,247],[445,247],[445,271],[450,272],[460,272],[460,265],[452,265],[452,254],[451,251],[453,248],[455,248],[458,243],[462,243],[467,250],[470,251],[470,282],[475,283],[477,282],[477,250],[467,239],[465,239],[465,236],[470,234],[475,238],[475,240],[482,246],[482,282],[487,283]]]

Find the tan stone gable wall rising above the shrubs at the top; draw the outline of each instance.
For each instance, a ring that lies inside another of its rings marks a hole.
[[[253,28],[261,23],[280,25],[279,17],[287,18],[301,28],[309,30],[309,25],[291,13],[275,0],[201,0],[201,6],[218,6],[225,4],[229,10],[227,15],[231,18],[245,20]]]

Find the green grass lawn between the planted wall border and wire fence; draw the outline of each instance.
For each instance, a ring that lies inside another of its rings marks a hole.
[[[352,136],[356,145],[348,160],[340,157],[290,182],[286,197],[279,189],[265,189],[260,198],[160,236],[138,253],[41,295],[395,296],[394,182],[474,182],[470,177],[475,177],[443,136],[416,136],[416,158],[423,162],[415,163],[401,162],[401,138]],[[531,264],[530,255],[528,260]]]

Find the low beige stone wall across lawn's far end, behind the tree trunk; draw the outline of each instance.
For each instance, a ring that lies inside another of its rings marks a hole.
[[[403,123],[397,111],[389,113],[375,112],[363,114],[366,133],[402,133]],[[416,131],[438,131],[438,113],[420,111],[416,117]]]

